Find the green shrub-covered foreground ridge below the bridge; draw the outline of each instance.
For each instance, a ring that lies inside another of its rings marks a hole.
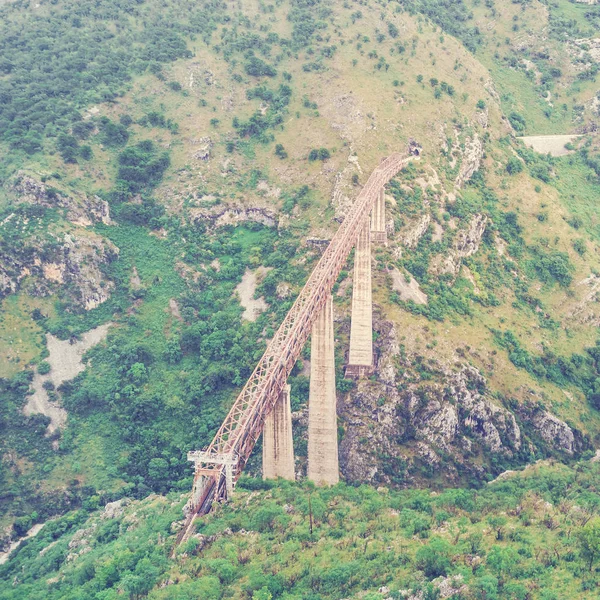
[[[177,497],[100,512],[93,497],[0,566],[0,598],[439,598],[446,578],[455,600],[596,598],[599,477],[541,464],[439,494],[246,478],[175,559]]]

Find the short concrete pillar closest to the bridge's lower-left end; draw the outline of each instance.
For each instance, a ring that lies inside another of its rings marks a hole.
[[[263,479],[277,477],[295,479],[289,385],[279,394],[263,429]]]

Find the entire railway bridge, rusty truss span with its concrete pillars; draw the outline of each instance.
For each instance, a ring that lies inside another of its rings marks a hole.
[[[190,535],[196,515],[231,496],[261,433],[263,476],[294,479],[294,453],[287,378],[311,336],[308,478],[318,485],[339,480],[332,288],[352,248],[354,279],[350,351],[346,375],[372,373],[371,243],[385,243],[385,185],[418,158],[412,142],[404,154],[381,160],[321,256],[304,288],[246,382],[210,446],[188,453],[194,484],[187,519],[178,536]]]

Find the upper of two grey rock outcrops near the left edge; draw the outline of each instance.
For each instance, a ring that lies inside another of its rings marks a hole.
[[[46,208],[67,210],[67,219],[76,225],[110,223],[108,202],[98,196],[66,196],[38,181],[24,171],[19,171],[8,184],[8,192],[17,202],[36,204]]]

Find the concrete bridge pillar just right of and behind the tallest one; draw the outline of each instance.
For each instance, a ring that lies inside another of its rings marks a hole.
[[[361,377],[373,371],[373,297],[371,292],[371,235],[366,223],[354,250],[350,353],[346,375]]]

